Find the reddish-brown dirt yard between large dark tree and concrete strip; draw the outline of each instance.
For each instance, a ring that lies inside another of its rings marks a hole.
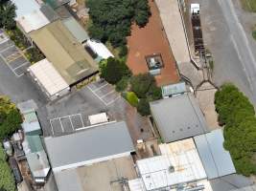
[[[153,53],[161,53],[164,67],[161,74],[155,77],[157,85],[166,85],[178,80],[175,68],[175,58],[169,47],[169,43],[154,2],[151,6],[151,18],[144,28],[132,25],[131,35],[128,37],[128,67],[133,74],[149,72],[145,56]]]

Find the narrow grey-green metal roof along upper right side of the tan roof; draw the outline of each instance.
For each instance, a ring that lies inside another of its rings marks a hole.
[[[73,17],[69,17],[62,20],[65,27],[72,33],[72,35],[80,42],[84,42],[85,40],[89,39],[89,35],[87,32],[82,29],[79,22]]]

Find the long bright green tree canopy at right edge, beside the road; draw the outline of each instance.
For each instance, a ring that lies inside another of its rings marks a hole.
[[[219,121],[224,125],[224,148],[238,173],[256,174],[256,117],[253,105],[233,84],[224,84],[215,95]]]

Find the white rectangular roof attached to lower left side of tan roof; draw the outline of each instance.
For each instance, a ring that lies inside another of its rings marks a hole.
[[[53,64],[46,58],[32,65],[30,71],[50,96],[56,95],[59,91],[68,88],[67,82],[58,74]]]

